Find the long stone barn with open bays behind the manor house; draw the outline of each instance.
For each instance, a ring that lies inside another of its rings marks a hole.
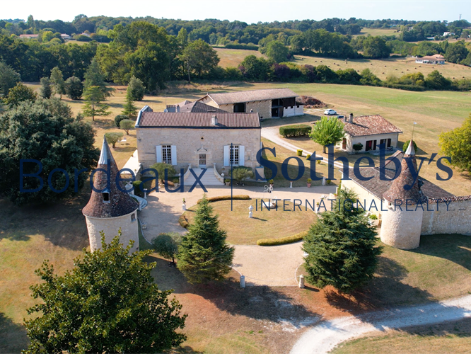
[[[266,89],[228,93],[208,93],[199,102],[229,113],[256,112],[260,119],[303,115],[304,105],[290,89]]]

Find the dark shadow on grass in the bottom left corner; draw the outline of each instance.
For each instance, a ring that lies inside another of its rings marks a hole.
[[[0,353],[18,354],[28,347],[26,329],[0,312]]]

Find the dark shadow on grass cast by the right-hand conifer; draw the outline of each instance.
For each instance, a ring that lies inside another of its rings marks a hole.
[[[390,258],[379,256],[376,274],[366,286],[351,294],[343,294],[328,288],[325,290],[325,297],[333,307],[351,313],[398,305],[422,304],[433,300],[429,292],[401,282],[406,275],[407,269],[403,265]]]

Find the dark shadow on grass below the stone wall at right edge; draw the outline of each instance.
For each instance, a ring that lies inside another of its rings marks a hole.
[[[420,237],[418,249],[409,252],[448,259],[471,270],[471,236],[438,234]]]

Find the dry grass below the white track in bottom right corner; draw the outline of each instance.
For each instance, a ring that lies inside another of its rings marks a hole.
[[[400,353],[470,353],[471,319],[446,322],[434,326],[419,326],[401,331],[374,333],[348,341],[332,354],[380,353],[388,348],[390,354]]]

